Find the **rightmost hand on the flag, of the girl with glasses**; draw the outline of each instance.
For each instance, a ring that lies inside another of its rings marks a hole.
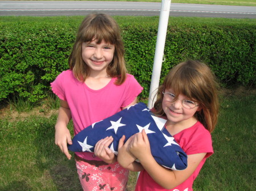
[[[150,142],[148,141],[147,134],[144,129],[142,130],[142,133],[135,134],[129,145],[129,151],[135,156],[135,158],[139,159],[139,161],[147,159],[147,157],[151,155]]]

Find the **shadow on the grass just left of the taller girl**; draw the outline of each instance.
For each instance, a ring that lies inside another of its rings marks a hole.
[[[45,119],[43,119],[45,120]],[[51,117],[48,121],[39,124],[37,136],[34,143],[38,148],[36,152],[36,166],[41,172],[46,172],[43,179],[53,181],[52,188],[57,191],[76,190],[82,191],[79,177],[77,175],[75,159],[68,160],[54,143],[54,125],[56,117]],[[47,177],[47,175],[49,177]]]

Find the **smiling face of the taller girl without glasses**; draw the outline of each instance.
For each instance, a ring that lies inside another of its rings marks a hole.
[[[112,62],[115,46],[106,43],[104,40],[100,44],[97,40],[82,43],[82,60],[90,67],[90,74],[106,74],[106,68]]]

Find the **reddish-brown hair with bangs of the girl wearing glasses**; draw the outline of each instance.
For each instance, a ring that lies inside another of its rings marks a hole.
[[[188,60],[172,68],[162,86],[158,89],[158,98],[154,104],[156,114],[166,116],[163,111],[163,90],[171,88],[176,97],[179,94],[200,104],[201,110],[195,117],[211,133],[218,118],[218,84],[210,68],[200,61]]]

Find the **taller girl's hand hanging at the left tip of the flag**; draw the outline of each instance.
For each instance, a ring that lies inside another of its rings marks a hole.
[[[71,159],[71,154],[68,152],[68,146],[72,145],[71,134],[67,126],[57,126],[55,127],[55,144],[60,147],[61,152],[63,152],[67,158]]]

